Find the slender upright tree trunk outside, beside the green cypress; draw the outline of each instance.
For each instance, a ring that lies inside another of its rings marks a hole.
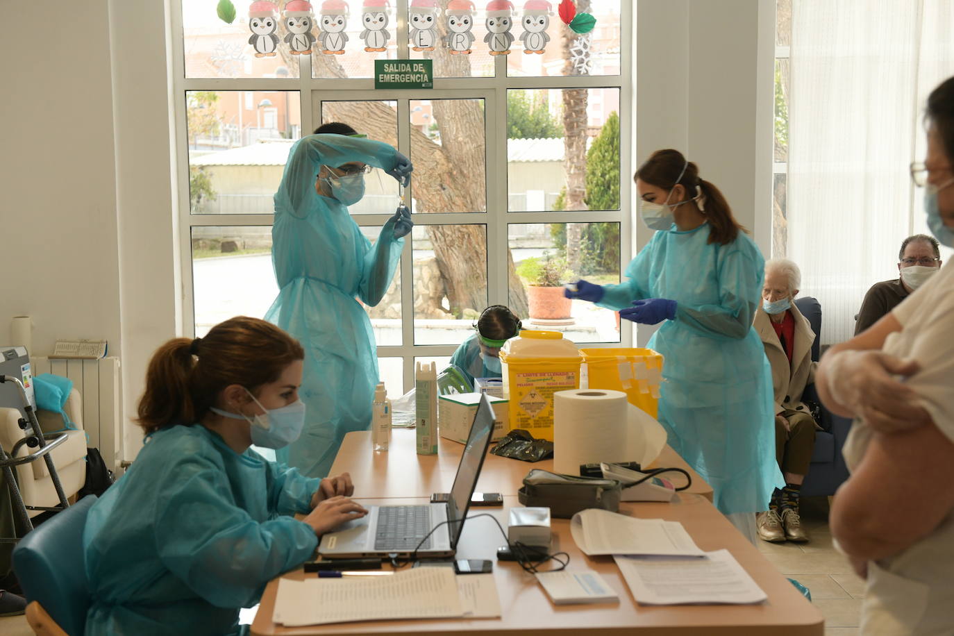
[[[578,12],[590,10],[590,0],[578,0]],[[578,35],[569,29],[563,30],[563,72],[565,75],[588,74],[589,65],[581,68],[571,61],[571,50],[579,40],[589,40],[590,34]],[[589,47],[587,48],[589,51]],[[564,155],[563,170],[567,178],[566,207],[564,210],[586,210],[583,200],[586,195],[587,177],[587,89],[563,91]],[[567,223],[567,264],[573,272],[580,271],[580,239],[582,223]]]

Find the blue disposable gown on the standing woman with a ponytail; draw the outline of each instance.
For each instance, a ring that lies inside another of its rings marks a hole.
[[[656,232],[630,263],[629,280],[608,285],[599,304],[676,301],[675,319],[649,342],[664,358],[659,421],[670,445],[713,486],[722,513],[758,512],[784,485],[772,371],[752,326],[765,261],[749,236],[719,245],[707,242],[709,233],[708,223]]]

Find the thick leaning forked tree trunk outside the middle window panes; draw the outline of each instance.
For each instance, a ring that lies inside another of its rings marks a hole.
[[[446,4],[446,0],[442,0],[443,9]],[[439,31],[441,36],[446,34],[443,21]],[[450,55],[444,47],[427,55],[435,60],[435,68],[449,69],[453,74],[470,74],[466,56]],[[337,59],[328,59],[334,58],[333,55],[313,54],[311,57],[312,64],[322,74],[345,76]],[[411,129],[410,159],[418,176],[413,179],[417,210],[423,214],[484,212],[487,210],[484,109],[479,102],[468,99],[431,103],[440,143]],[[381,102],[324,102],[322,117],[351,123],[368,137],[397,146],[394,110]],[[483,257],[487,253],[485,222],[475,218],[473,225],[427,226],[427,236],[445,279],[450,310],[458,318],[463,317],[465,308],[480,311],[487,306],[487,267]],[[509,249],[507,264],[510,309],[517,316],[527,316],[527,294]]]

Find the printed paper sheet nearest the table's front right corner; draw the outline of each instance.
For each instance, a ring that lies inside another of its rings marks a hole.
[[[768,598],[729,550],[707,552],[705,559],[613,558],[643,605],[748,605]]]

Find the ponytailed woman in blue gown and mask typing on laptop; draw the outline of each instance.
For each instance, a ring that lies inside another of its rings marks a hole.
[[[297,340],[257,318],[159,347],[139,400],[145,445],[83,533],[87,636],[238,632],[239,608],[270,579],[366,514],[347,499],[347,473],[306,478],[249,448],[301,433],[302,359]]]

